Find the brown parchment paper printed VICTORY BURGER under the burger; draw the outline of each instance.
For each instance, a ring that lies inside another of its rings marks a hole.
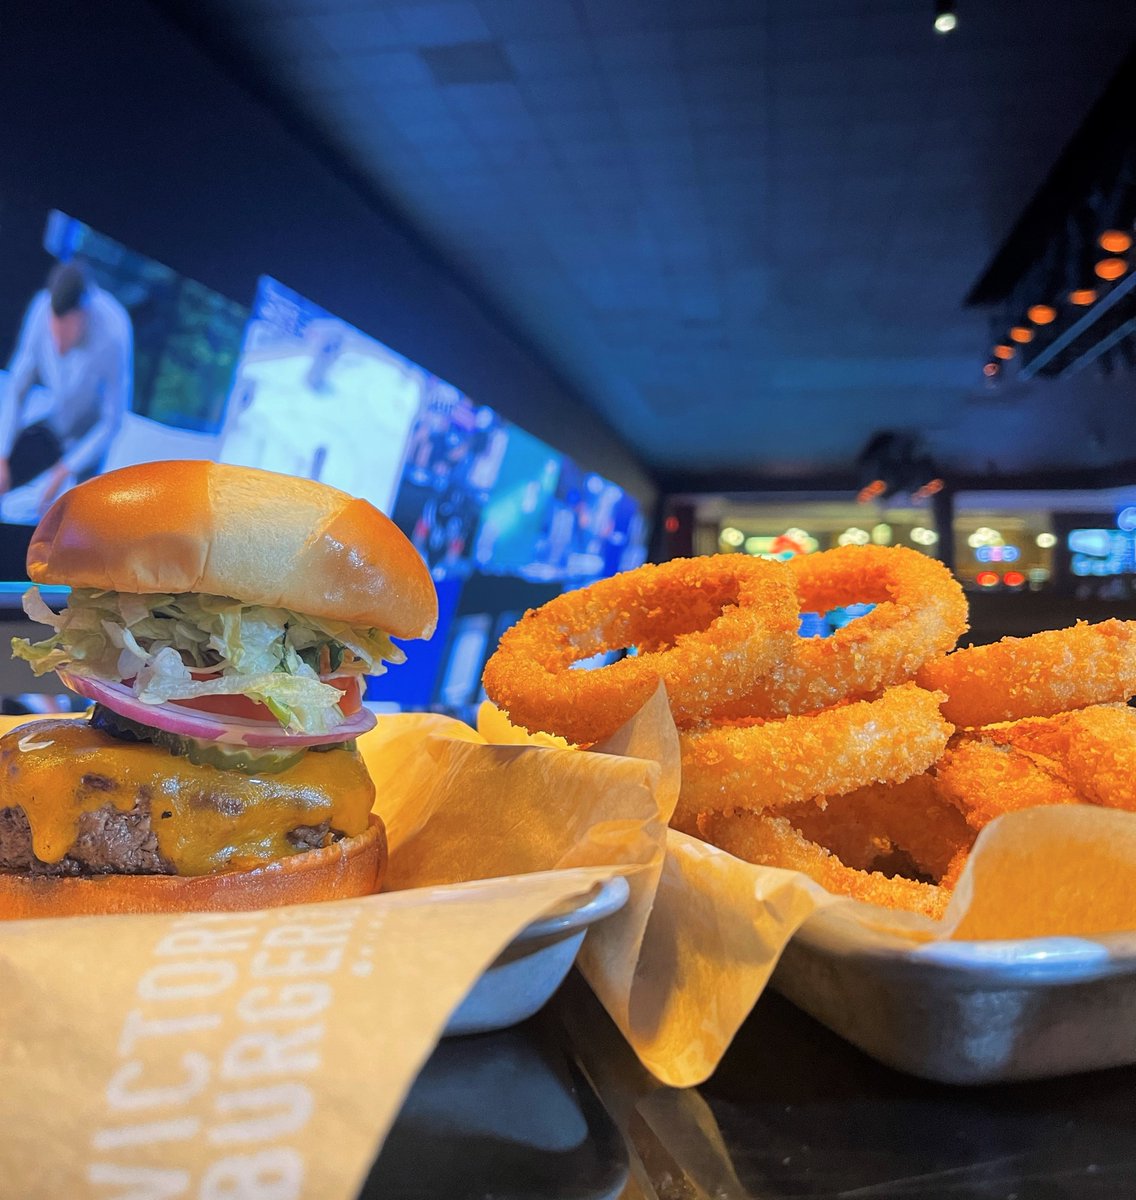
[[[348,1200],[521,929],[615,872],[645,919],[678,790],[661,695],[597,754],[429,715],[361,749],[396,890],[0,922],[0,1193]]]

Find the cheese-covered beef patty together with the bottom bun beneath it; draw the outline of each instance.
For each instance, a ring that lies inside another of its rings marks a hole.
[[[0,919],[378,889],[386,833],[353,743],[264,752],[148,732],[96,708],[0,736]]]

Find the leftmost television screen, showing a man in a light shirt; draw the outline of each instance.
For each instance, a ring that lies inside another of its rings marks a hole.
[[[0,227],[0,575],[77,481],[217,449],[248,310],[58,210]]]

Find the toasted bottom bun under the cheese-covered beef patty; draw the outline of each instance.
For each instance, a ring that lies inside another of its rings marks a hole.
[[[104,913],[242,912],[345,900],[377,892],[386,829],[377,817],[355,838],[220,875],[47,876],[0,872],[0,919]]]

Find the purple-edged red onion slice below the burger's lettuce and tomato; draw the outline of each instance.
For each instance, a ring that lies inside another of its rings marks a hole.
[[[72,691],[106,704],[119,716],[138,721],[139,725],[152,725],[157,730],[166,730],[167,733],[176,733],[184,738],[202,738],[205,742],[221,742],[226,745],[266,748],[329,745],[332,742],[349,742],[351,738],[357,738],[375,724],[374,713],[361,708],[327,733],[289,733],[276,721],[217,716],[214,713],[203,713],[173,703],[145,704],[125,684],[91,679],[89,676],[71,674],[67,671],[58,673]]]

